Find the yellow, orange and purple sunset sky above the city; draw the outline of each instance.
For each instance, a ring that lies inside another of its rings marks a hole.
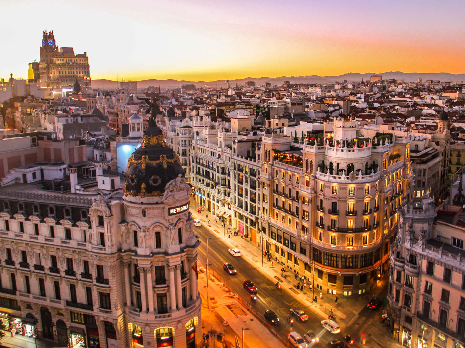
[[[93,80],[465,73],[463,0],[0,0],[0,77],[27,78],[44,30]]]

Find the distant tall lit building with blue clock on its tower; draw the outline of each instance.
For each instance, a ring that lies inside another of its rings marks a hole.
[[[40,46],[39,81],[46,99],[53,99],[53,90],[69,88],[79,82],[82,92],[90,89],[89,58],[87,53],[74,54],[72,47],[61,47],[52,32],[43,32]]]

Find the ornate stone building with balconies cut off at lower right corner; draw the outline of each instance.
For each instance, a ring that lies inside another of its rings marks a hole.
[[[461,207],[434,200],[400,208],[388,300],[394,339],[407,348],[465,347],[465,239]]]

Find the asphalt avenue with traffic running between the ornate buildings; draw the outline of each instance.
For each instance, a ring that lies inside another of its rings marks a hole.
[[[255,270],[254,267],[242,257],[233,257],[228,252],[229,247],[220,238],[217,238],[214,233],[210,233],[205,227],[199,226],[194,228],[202,242],[199,247],[199,266],[206,265],[206,238],[211,237],[208,241],[208,262],[210,264],[210,270],[216,272],[219,277],[222,277],[229,289],[237,293],[244,302],[250,303],[255,315],[264,319],[263,315],[266,309],[274,311],[279,317],[280,322],[274,325],[273,328],[285,340],[287,340],[287,334],[292,331],[296,331],[299,335],[304,335],[308,330],[312,330],[319,336],[320,340],[319,343],[314,344],[312,347],[318,348],[328,347],[328,343],[335,339],[342,341],[343,337],[347,334],[352,336],[359,335],[360,327],[357,328],[357,332],[351,332],[351,330],[349,330],[348,332],[341,332],[339,334],[329,333],[329,331],[321,327],[320,322],[322,319],[315,316],[306,305],[296,300],[294,296],[290,294],[290,290],[284,289],[284,287],[281,287],[279,290],[276,289],[275,283],[273,283],[270,278]],[[236,275],[231,276],[223,270],[223,264],[225,262],[229,262],[234,266],[237,270]],[[256,303],[252,303],[248,291],[242,286],[242,283],[246,279],[252,280],[258,288]],[[294,323],[292,325],[288,324],[286,319],[289,316],[290,308],[303,309],[306,314],[309,315],[308,321],[300,322],[294,318]],[[360,317],[363,319],[362,322],[367,323],[372,321],[376,314],[376,311],[363,309]]]

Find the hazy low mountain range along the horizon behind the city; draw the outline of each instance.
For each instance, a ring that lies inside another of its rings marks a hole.
[[[343,82],[347,80],[348,82],[360,82],[362,79],[364,81],[370,80],[372,75],[382,75],[383,79],[392,79],[404,80],[405,82],[413,82],[421,78],[425,80],[439,80],[439,81],[448,81],[448,82],[463,82],[465,81],[465,74],[451,74],[448,72],[435,72],[435,73],[422,73],[422,72],[402,72],[402,71],[387,71],[383,73],[373,73],[367,72],[364,74],[357,72],[349,72],[347,74],[338,75],[338,76],[319,76],[319,75],[307,75],[307,76],[281,76],[281,77],[246,77],[237,80],[230,80],[230,86],[234,87],[235,84],[244,85],[246,81],[254,81],[257,86],[264,85],[269,82],[272,85],[281,85],[284,81],[289,81],[291,84],[302,83],[302,84],[324,84],[328,82]],[[92,87],[94,89],[103,88],[103,89],[115,89],[118,86],[119,81],[113,81],[108,79],[99,79],[92,81]],[[177,88],[182,84],[195,84],[198,88],[199,86],[206,87],[226,87],[226,80],[217,80],[217,81],[187,81],[187,80],[158,80],[158,79],[149,79],[137,81],[137,88],[147,88],[148,86],[160,87],[162,89]]]

